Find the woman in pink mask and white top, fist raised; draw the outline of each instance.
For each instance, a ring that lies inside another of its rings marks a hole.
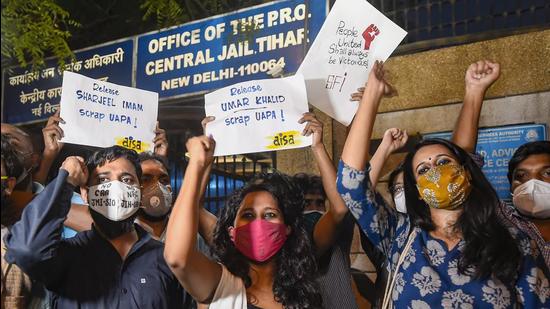
[[[210,308],[320,308],[316,266],[303,228],[303,197],[278,173],[252,180],[218,220],[212,261],[195,247],[201,180],[215,142],[189,139],[184,183],[168,222],[164,256],[184,288]]]

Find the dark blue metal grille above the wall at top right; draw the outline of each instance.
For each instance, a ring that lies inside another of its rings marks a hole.
[[[368,0],[408,35],[397,53],[486,40],[550,24],[547,0]]]

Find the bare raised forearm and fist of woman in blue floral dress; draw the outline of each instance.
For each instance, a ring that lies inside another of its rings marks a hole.
[[[380,100],[384,95],[391,95],[393,92],[392,87],[384,80],[384,74],[383,63],[376,61],[344,144],[342,161],[357,170],[364,170],[367,164],[370,138]]]

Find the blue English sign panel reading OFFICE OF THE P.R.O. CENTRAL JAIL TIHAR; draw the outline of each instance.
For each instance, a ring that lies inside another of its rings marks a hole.
[[[325,19],[326,1],[267,3],[138,36],[136,86],[185,96],[294,73]]]

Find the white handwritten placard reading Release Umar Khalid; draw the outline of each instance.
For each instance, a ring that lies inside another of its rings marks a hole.
[[[205,95],[205,111],[216,117],[206,126],[216,140],[216,156],[311,145],[311,136],[302,136],[305,124],[298,123],[308,111],[301,75],[219,89]]]

